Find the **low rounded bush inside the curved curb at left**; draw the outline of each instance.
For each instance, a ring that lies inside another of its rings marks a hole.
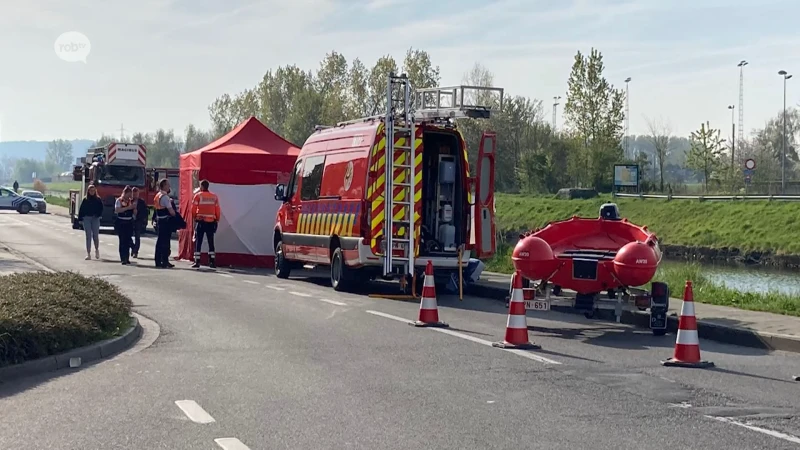
[[[119,335],[131,301],[116,286],[73,272],[0,277],[0,367]]]

